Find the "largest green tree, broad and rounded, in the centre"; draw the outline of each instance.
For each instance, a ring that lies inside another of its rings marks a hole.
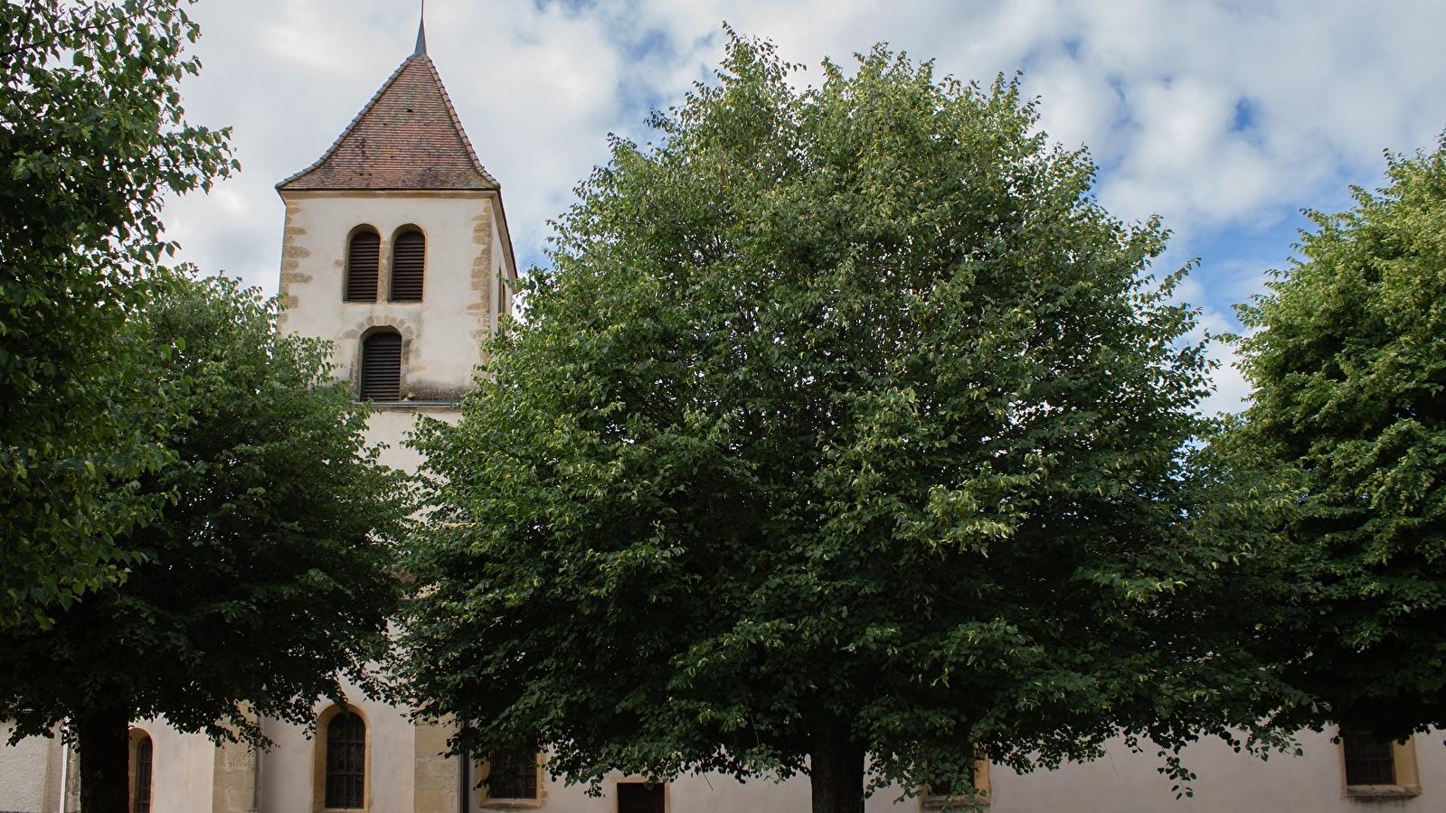
[[[406,699],[576,781],[805,771],[818,813],[1270,736],[1213,622],[1229,552],[1184,527],[1209,362],[1145,276],[1164,230],[1017,84],[882,48],[790,74],[732,39],[658,146],[615,140],[460,423],[419,429]]]

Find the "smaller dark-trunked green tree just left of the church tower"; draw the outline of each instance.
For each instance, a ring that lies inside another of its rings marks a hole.
[[[130,721],[260,742],[257,715],[309,723],[343,674],[375,686],[409,490],[328,380],[330,345],[281,335],[276,313],[224,279],[158,293],[146,331],[168,352],[152,374],[185,420],[142,494],[175,501],[121,540],[143,556],[123,585],[0,634],[0,709],[16,738],[69,718],[87,813],[127,810]]]

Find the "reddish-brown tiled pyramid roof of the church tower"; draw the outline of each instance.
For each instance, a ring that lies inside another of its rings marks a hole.
[[[437,66],[414,53],[317,163],[278,189],[497,189],[477,160]]]

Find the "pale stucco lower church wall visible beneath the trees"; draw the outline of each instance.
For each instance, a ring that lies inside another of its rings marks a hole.
[[[535,801],[492,801],[480,793],[461,803],[455,760],[438,773],[434,758],[445,731],[415,728],[398,709],[348,696],[367,721],[367,806],[373,813],[451,813],[469,810],[545,810],[552,813],[616,813],[616,781],[603,784],[600,797],[583,787],[542,780]],[[320,712],[321,709],[318,709]],[[137,723],[155,742],[155,813],[318,813],[318,762],[324,749],[302,728],[268,722],[263,728],[275,747],[262,754],[256,771],[254,803],[237,806],[217,793],[217,748],[200,735],[171,731],[162,722]],[[1419,796],[1410,799],[1361,799],[1348,793],[1340,747],[1332,732],[1304,732],[1303,757],[1274,755],[1268,761],[1235,754],[1219,742],[1202,742],[1186,749],[1186,765],[1199,774],[1193,797],[1176,799],[1171,783],[1155,768],[1151,754],[1131,754],[1113,742],[1109,755],[1084,765],[1018,775],[995,767],[991,771],[989,813],[1427,813],[1446,810],[1446,731],[1414,738]],[[0,747],[0,812],[58,813],[59,755],[55,739],[27,739],[17,747]],[[65,810],[80,810],[72,781]],[[476,777],[477,774],[473,773]],[[441,787],[437,780],[442,780]],[[431,783],[438,791],[428,793]],[[450,783],[450,786],[447,784]],[[752,780],[737,783],[720,775],[681,777],[665,791],[668,813],[803,813],[810,809],[808,780],[784,783]],[[899,800],[897,788],[869,799],[866,813],[917,812],[918,799]]]

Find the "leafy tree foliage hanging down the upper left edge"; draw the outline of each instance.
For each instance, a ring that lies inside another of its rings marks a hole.
[[[163,196],[234,168],[187,126],[189,0],[0,6],[0,630],[43,622],[132,562],[162,393],[121,326],[169,250]]]

